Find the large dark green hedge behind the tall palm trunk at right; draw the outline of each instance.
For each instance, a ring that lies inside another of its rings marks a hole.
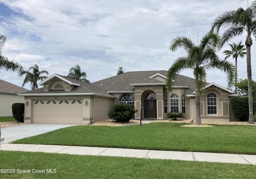
[[[230,104],[233,114],[238,121],[247,121],[249,119],[248,96],[232,97],[230,98]],[[253,105],[253,107],[255,107],[255,105]]]

